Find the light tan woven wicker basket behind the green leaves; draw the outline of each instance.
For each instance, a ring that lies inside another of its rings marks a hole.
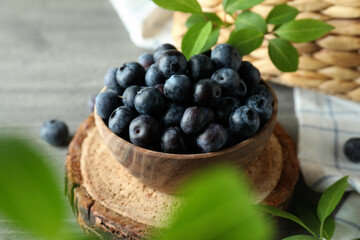
[[[222,0],[199,2],[203,11],[231,19],[223,11]],[[300,53],[299,70],[294,73],[282,73],[272,64],[266,40],[244,59],[258,67],[265,80],[360,102],[360,0],[265,0],[252,11],[266,17],[274,5],[281,3],[297,8],[297,19],[322,20],[335,29],[316,41],[294,44]],[[184,13],[174,14],[172,35],[178,46],[187,30],[187,17]],[[229,29],[222,29],[219,43],[227,41],[229,34]]]

